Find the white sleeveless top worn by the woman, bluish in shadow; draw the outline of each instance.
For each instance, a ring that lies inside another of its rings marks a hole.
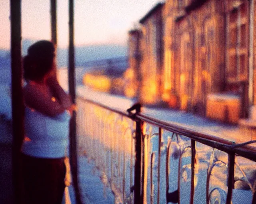
[[[70,114],[55,117],[25,108],[25,134],[21,151],[32,157],[61,158],[68,145]]]

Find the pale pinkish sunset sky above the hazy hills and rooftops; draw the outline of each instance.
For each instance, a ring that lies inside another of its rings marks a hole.
[[[126,45],[158,0],[74,0],[75,44]],[[0,49],[10,48],[10,0],[0,0]],[[57,0],[58,46],[68,45],[68,0]],[[22,0],[22,38],[50,39],[50,0]]]

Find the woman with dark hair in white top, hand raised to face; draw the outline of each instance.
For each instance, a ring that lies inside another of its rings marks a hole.
[[[38,41],[24,57],[25,139],[22,144],[25,200],[60,204],[64,193],[70,97],[56,79],[55,49]]]

